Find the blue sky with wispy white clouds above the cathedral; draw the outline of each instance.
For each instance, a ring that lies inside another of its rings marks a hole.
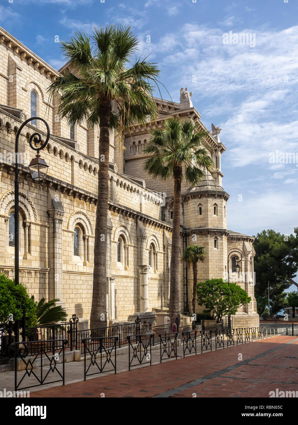
[[[297,152],[298,162],[297,12],[297,0],[2,0],[0,26],[59,69],[55,36],[130,24],[172,99],[188,87],[206,127],[222,128],[228,228],[290,234],[298,226],[298,164],[272,164],[270,153]],[[255,47],[224,44],[229,31],[255,34]]]

